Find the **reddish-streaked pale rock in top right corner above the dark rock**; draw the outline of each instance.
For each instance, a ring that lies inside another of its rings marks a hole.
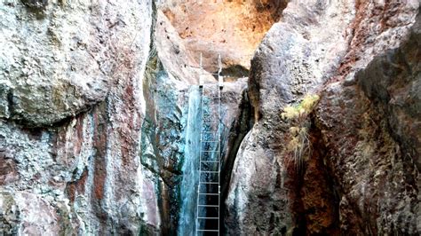
[[[345,29],[348,45],[338,78],[366,67],[374,56],[399,46],[417,14],[418,1],[355,1],[355,15]]]

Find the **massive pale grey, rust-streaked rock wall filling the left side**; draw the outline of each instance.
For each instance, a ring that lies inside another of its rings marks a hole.
[[[155,177],[139,161],[152,3],[4,1],[0,9],[0,179],[19,215],[7,228],[159,231]]]

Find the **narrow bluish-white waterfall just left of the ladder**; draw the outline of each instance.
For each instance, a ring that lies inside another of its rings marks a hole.
[[[198,86],[188,91],[188,110],[186,126],[185,156],[183,162],[183,179],[181,181],[178,235],[195,235],[195,215],[197,200],[198,165],[200,154],[201,130],[201,94]]]

